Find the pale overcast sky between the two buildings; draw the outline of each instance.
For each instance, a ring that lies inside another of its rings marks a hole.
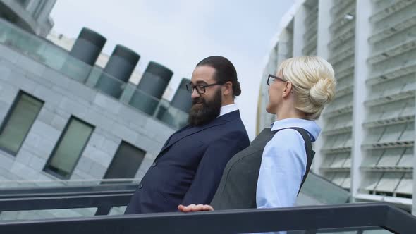
[[[257,97],[264,58],[281,17],[293,0],[60,0],[53,30],[77,37],[90,27],[107,38],[104,52],[123,44],[140,54],[139,70],[156,61],[173,70],[169,86],[190,78],[198,61],[221,55],[238,73],[243,122],[255,137]]]

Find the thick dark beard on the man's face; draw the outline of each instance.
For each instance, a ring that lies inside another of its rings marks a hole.
[[[189,111],[188,123],[193,126],[205,125],[219,116],[221,111],[221,90],[214,93],[212,100],[207,101],[202,97],[192,100],[192,107]]]

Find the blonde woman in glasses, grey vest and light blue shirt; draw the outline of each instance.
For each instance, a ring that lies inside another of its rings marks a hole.
[[[224,169],[211,205],[179,205],[179,211],[292,207],[305,181],[321,131],[314,122],[334,99],[334,70],[323,58],[300,56],[283,61],[269,75],[267,112],[276,114],[266,128]]]

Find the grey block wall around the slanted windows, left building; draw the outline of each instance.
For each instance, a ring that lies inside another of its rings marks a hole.
[[[41,99],[44,106],[18,154],[0,150],[0,186],[6,186],[1,180],[56,180],[42,169],[71,116],[95,126],[71,179],[102,178],[122,140],[147,152],[136,175],[142,178],[174,132],[145,113],[0,44],[1,122],[19,90]]]

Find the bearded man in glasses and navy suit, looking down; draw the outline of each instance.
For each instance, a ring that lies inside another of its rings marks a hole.
[[[228,160],[250,144],[234,103],[241,90],[231,61],[221,56],[204,58],[187,89],[192,97],[188,125],[166,141],[125,214],[209,204]]]

